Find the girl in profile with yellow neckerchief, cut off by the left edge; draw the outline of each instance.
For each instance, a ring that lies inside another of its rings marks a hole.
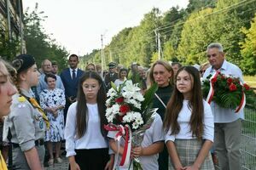
[[[12,96],[17,92],[15,86],[10,81],[9,72],[5,62],[0,59],[0,118],[7,116],[12,104]],[[0,169],[7,170],[5,161],[0,152]]]

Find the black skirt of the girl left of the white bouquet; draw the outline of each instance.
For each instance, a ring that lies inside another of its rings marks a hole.
[[[75,151],[75,161],[81,170],[103,170],[109,161],[108,148]]]

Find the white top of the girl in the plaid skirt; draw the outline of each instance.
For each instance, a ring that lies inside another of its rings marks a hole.
[[[202,139],[208,139],[213,142],[214,137],[214,122],[210,105],[204,100],[204,119],[203,119],[203,134]],[[189,100],[183,100],[183,108],[177,116],[177,122],[180,126],[180,131],[177,134],[171,135],[171,129],[166,133],[166,142],[175,139],[196,139],[196,136],[192,136],[190,131],[190,116],[191,110],[189,109]]]

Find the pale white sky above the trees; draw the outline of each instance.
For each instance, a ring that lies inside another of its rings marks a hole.
[[[162,13],[177,5],[185,8],[189,0],[23,0],[23,10],[38,11],[48,18],[44,30],[69,54],[90,54],[111,42],[125,27],[138,26],[152,8]]]

